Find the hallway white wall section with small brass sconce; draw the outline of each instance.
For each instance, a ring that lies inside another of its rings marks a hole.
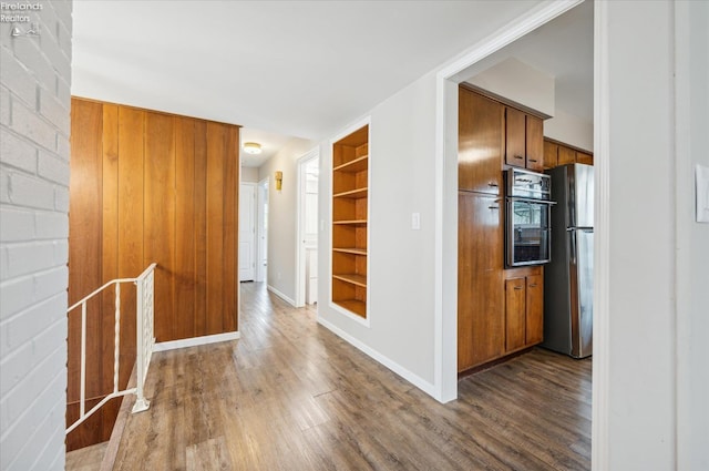
[[[296,161],[317,143],[294,137],[258,168],[257,181],[268,177],[268,288],[295,304],[297,167]],[[274,174],[284,173],[282,190],[276,190]]]

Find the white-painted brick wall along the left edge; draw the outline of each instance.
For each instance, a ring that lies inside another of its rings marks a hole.
[[[39,38],[0,23],[0,469],[63,470],[72,2],[20,2],[42,9]]]

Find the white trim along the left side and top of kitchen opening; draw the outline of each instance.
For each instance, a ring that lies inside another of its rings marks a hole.
[[[501,48],[532,32],[542,24],[553,20],[559,14],[568,11],[583,0],[564,0],[542,3],[532,9],[526,14],[518,18],[494,34],[471,48],[459,59],[442,68],[436,73],[436,110],[435,110],[435,266],[434,266],[434,385],[433,395],[441,402],[455,399],[458,396],[458,367],[455,358],[458,356],[456,341],[448,341],[458,338],[458,307],[456,303],[446,299],[444,286],[456,286],[458,266],[455,257],[446,253],[445,235],[458,234],[456,221],[451,221],[448,215],[449,206],[453,205],[456,198],[458,185],[446,185],[449,175],[446,168],[451,164],[450,160],[455,156],[458,160],[458,149],[446,149],[446,99],[448,85],[450,82],[458,83],[460,79],[455,75],[464,71],[475,62],[486,58]],[[458,126],[458,123],[449,123],[450,126]],[[452,172],[458,172],[458,165]],[[458,178],[455,178],[458,180]],[[454,250],[454,248],[450,248]]]

